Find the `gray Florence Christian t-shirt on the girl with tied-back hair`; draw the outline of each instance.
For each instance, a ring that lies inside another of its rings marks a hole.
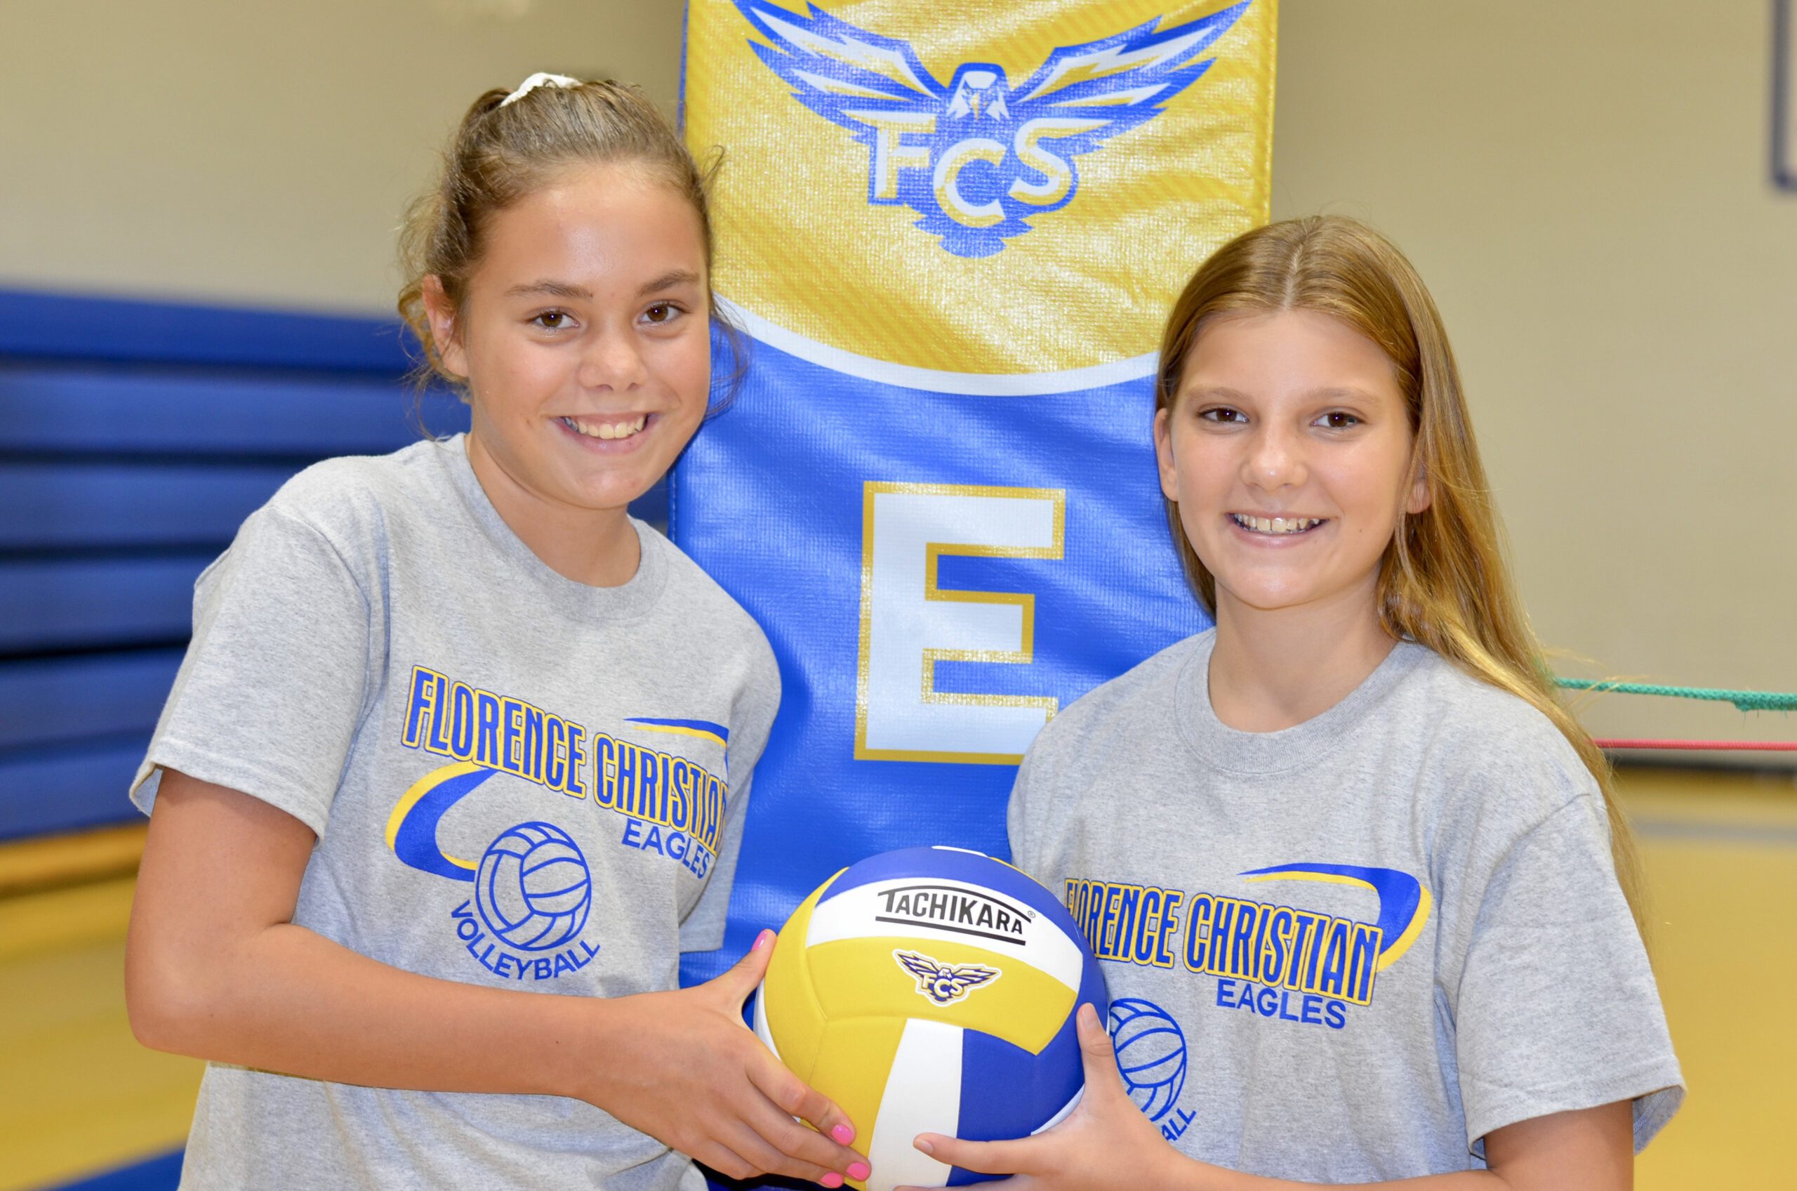
[[[293,921],[406,972],[527,993],[677,984],[722,943],[780,673],[652,529],[595,588],[505,525],[460,437],[307,468],[201,574],[133,783],[169,766],[314,833]],[[487,1038],[503,1052],[503,1036]],[[212,1063],[183,1187],[703,1187],[553,1096],[365,1088]]]

